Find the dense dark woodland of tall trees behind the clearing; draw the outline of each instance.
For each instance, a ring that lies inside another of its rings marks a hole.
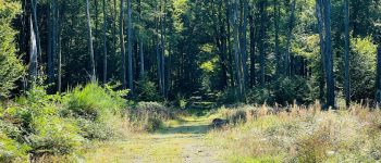
[[[51,93],[120,82],[137,100],[219,92],[224,102],[319,99],[333,106],[335,97],[380,97],[378,0],[13,3],[2,1],[3,16],[14,16],[7,5],[19,13],[5,22],[16,32],[10,53],[28,76],[19,73],[15,90],[46,75]]]

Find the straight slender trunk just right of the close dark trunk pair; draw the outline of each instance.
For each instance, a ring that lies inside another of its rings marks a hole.
[[[351,76],[349,76],[349,0],[344,0],[345,15],[345,103],[349,108],[351,104]]]

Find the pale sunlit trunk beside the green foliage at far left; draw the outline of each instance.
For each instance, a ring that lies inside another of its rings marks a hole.
[[[29,16],[29,26],[30,26],[30,41],[29,41],[29,78],[32,83],[37,82],[37,71],[38,71],[38,62],[37,62],[37,43],[36,43],[36,34],[33,27],[32,16]]]

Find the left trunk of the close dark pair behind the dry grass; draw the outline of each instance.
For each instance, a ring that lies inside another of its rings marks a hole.
[[[319,89],[320,89],[320,102],[325,103],[324,100],[324,88],[325,88],[325,48],[324,48],[324,34],[323,34],[323,17],[322,17],[322,0],[316,1],[316,16],[318,20],[318,29],[319,29],[319,40],[320,40],[320,67],[321,75],[319,76]]]

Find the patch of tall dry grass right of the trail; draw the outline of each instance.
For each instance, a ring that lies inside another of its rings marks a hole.
[[[321,111],[319,104],[287,109],[221,109],[231,125],[213,130],[231,162],[376,162],[381,159],[381,112],[354,104]]]

